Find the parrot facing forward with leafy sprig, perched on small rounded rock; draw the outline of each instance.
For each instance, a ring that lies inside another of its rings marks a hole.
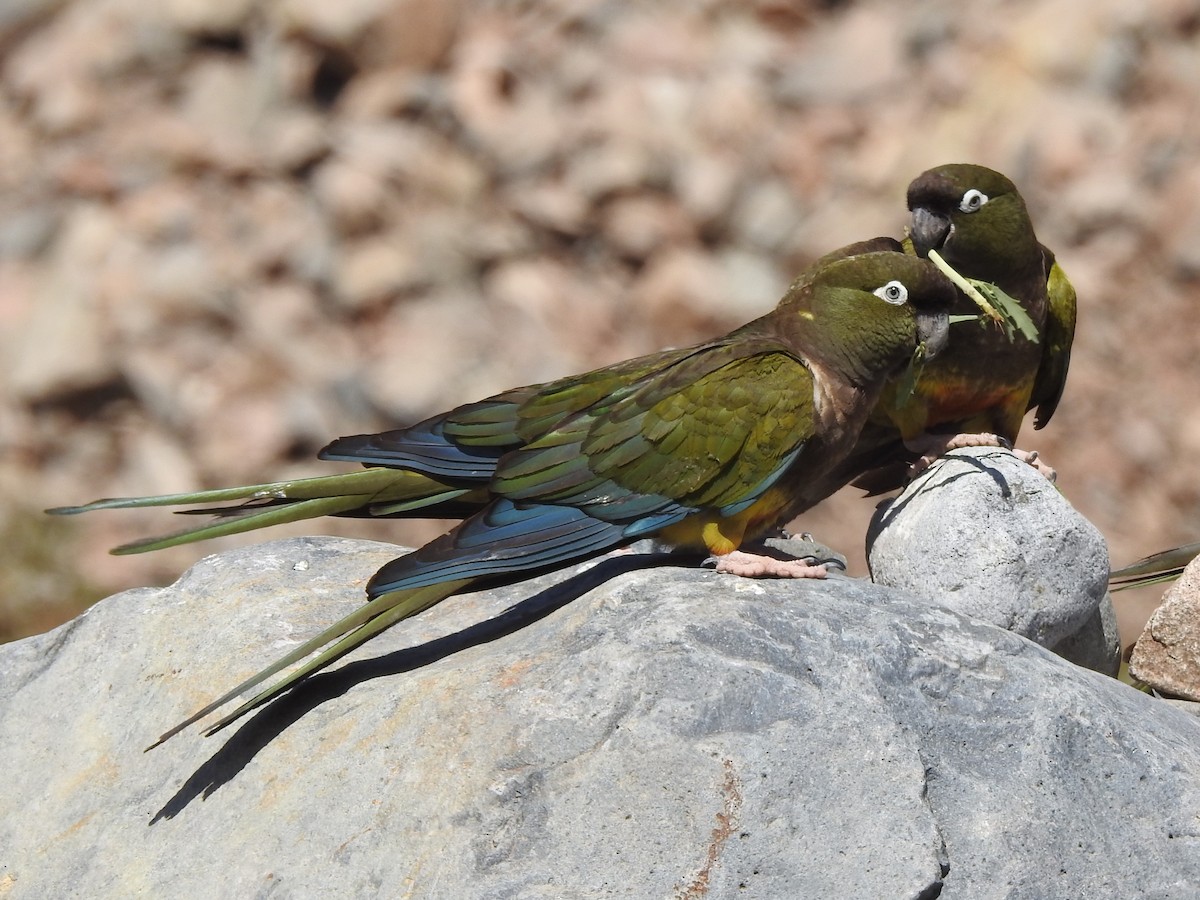
[[[916,382],[884,386],[858,446],[824,488],[857,475],[856,485],[880,493],[902,486],[914,456],[919,468],[954,446],[1010,445],[1027,410],[1037,410],[1034,428],[1050,421],[1067,382],[1075,290],[1038,242],[1013,182],[983,166],[938,166],[908,185],[907,199],[906,247],[919,257],[937,251],[959,275],[998,287],[1025,311],[1038,340],[1006,335],[986,320],[955,330],[947,352]],[[978,310],[960,293],[954,312]],[[1036,454],[1025,457],[1052,478]]]

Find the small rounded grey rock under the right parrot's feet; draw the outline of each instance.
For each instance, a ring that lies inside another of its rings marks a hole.
[[[966,448],[937,460],[881,504],[866,552],[878,584],[1117,672],[1104,538],[1008,450]]]

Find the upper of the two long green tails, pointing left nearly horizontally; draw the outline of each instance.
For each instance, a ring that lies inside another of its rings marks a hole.
[[[421,510],[420,515],[436,515],[439,505],[478,504],[486,493],[478,487],[451,485],[416,472],[392,468],[368,468],[343,475],[275,481],[266,485],[227,487],[196,493],[174,493],[158,497],[119,497],[95,500],[82,506],[58,506],[47,512],[73,516],[102,509],[132,509],[144,506],[180,506],[193,504],[228,504],[208,509],[179,510],[186,514],[210,514],[216,521],[185,528],[173,534],[124,544],[113,553],[144,553],[175,547],[180,544],[241,534],[256,528],[298,522],[317,516],[378,516],[396,517]],[[457,511],[456,511],[457,512]]]

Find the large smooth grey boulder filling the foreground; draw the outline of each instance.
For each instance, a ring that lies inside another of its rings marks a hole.
[[[0,895],[1196,895],[1200,722],[840,576],[452,598],[143,752],[395,553],[264,544],[0,647]]]

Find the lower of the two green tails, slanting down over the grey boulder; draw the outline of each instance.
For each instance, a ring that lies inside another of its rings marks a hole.
[[[200,719],[206,716],[209,713],[212,713],[217,708],[224,706],[238,695],[244,694],[251,688],[262,684],[268,678],[287,668],[294,662],[299,662],[305,656],[317,652],[318,649],[328,644],[330,641],[341,638],[332,647],[329,647],[322,654],[310,660],[305,665],[300,666],[300,668],[289,673],[284,678],[281,678],[270,688],[266,688],[265,690],[262,690],[258,694],[256,694],[253,697],[247,700],[245,703],[234,709],[232,713],[220,719],[216,724],[214,724],[209,728],[206,728],[204,733],[208,736],[208,734],[214,734],[217,731],[221,731],[221,728],[226,727],[230,722],[236,721],[246,713],[251,712],[252,709],[257,709],[272,697],[282,694],[300,679],[306,678],[307,676],[314,672],[319,672],[322,668],[325,668],[325,666],[336,662],[359,644],[364,643],[365,641],[368,641],[370,638],[374,637],[382,631],[385,631],[386,629],[395,625],[397,622],[402,622],[403,619],[407,619],[410,616],[415,616],[419,612],[424,612],[425,610],[430,608],[440,600],[444,600],[451,594],[467,587],[468,584],[472,583],[472,581],[473,581],[472,578],[463,578],[460,581],[444,582],[442,584],[432,584],[424,588],[413,588],[409,590],[395,590],[391,592],[390,594],[383,594],[380,596],[377,596],[374,600],[365,604],[360,608],[352,612],[349,616],[334,623],[316,637],[306,641],[305,643],[300,644],[287,655],[276,660],[263,671],[251,676],[245,682],[239,684],[236,688],[233,688],[226,694],[222,694],[220,697],[214,700],[206,707],[197,710],[187,719],[181,721],[179,725],[176,725],[174,728],[163,733],[162,737],[160,737],[155,743],[148,746],[146,750],[152,750],[154,748],[162,744],[164,740],[173,738],[184,728],[192,725],[193,722],[199,721]]]

